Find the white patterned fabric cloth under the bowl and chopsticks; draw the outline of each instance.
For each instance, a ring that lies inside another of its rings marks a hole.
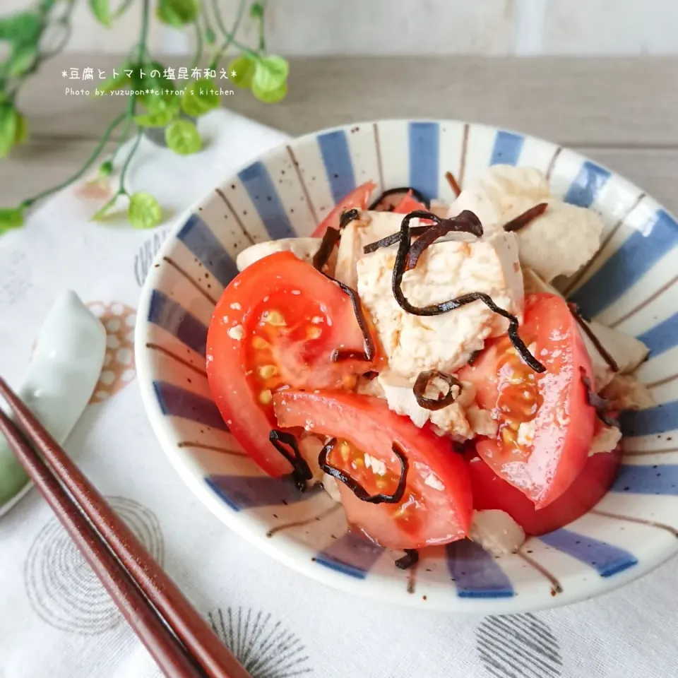
[[[134,381],[140,286],[167,228],[221,177],[283,134],[224,111],[208,148],[179,157],[148,141],[130,172],[167,210],[153,232],[88,221],[66,189],[0,239],[0,374],[16,385],[63,288],[107,326],[93,402],[66,443],[85,473],[206,614],[254,678],[664,678],[676,675],[678,566],[569,608],[459,618],[326,588],[259,552],[203,506],[157,443]],[[0,678],[145,678],[160,672],[44,501],[0,518]]]

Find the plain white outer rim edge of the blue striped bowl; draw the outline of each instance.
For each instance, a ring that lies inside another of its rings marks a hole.
[[[283,147],[285,143],[295,144],[303,143],[304,141],[312,141],[320,134],[339,130],[349,131],[355,126],[371,126],[384,123],[408,124],[410,122],[434,122],[440,125],[461,124],[473,126],[475,128],[480,127],[495,132],[506,131],[523,136],[525,140],[531,139],[538,143],[554,145],[556,148],[567,150],[568,153],[571,153],[576,159],[581,159],[582,161],[590,160],[585,155],[578,153],[577,150],[573,150],[564,145],[501,126],[470,122],[460,119],[439,119],[433,117],[384,118],[335,125],[312,131],[301,136],[292,137],[290,140],[270,148],[268,151],[266,151],[266,153],[257,155],[251,160],[242,163],[242,165],[239,165],[237,169],[235,169],[231,174],[227,175],[226,177],[222,177],[220,182],[215,183],[215,186],[220,186],[221,184],[227,183],[230,177],[236,175],[240,169],[244,169],[244,167],[251,165],[252,162],[264,162],[266,159],[268,159],[268,157],[276,155],[280,152],[280,148]],[[629,186],[637,188],[638,191],[641,191],[641,189],[639,189],[636,184],[629,181],[629,179],[626,179],[626,177],[624,177],[622,174],[614,172],[614,170],[609,169],[600,162],[593,160],[590,160],[590,162],[595,162],[595,165],[598,167],[607,169],[611,177],[619,177],[620,179],[623,179],[624,182],[626,182],[626,184]],[[172,418],[162,415],[160,406],[157,403],[157,398],[155,397],[155,391],[153,389],[153,370],[151,368],[149,352],[145,350],[149,326],[148,311],[150,307],[150,298],[157,285],[160,275],[162,275],[162,267],[157,268],[156,264],[161,263],[163,257],[167,256],[167,253],[172,250],[172,247],[176,242],[177,233],[184,226],[190,215],[198,213],[198,208],[213,199],[215,186],[211,187],[205,192],[205,194],[198,198],[198,200],[194,201],[194,203],[192,203],[189,208],[186,208],[186,210],[177,215],[177,217],[173,220],[173,225],[164,225],[165,229],[167,229],[167,236],[165,237],[165,241],[162,243],[162,246],[155,254],[155,258],[153,259],[153,263],[148,270],[148,275],[144,280],[139,297],[137,322],[134,330],[134,358],[144,410],[148,416],[148,419],[150,420],[153,433],[160,442],[162,450],[169,458],[169,462],[174,467],[174,470],[176,470],[182,480],[186,482],[191,491],[194,492],[196,496],[198,496],[198,499],[200,499],[203,504],[205,504],[207,508],[215,516],[217,516],[217,518],[220,519],[220,521],[225,523],[228,528],[233,530],[234,533],[237,533],[237,535],[243,537],[252,545],[255,545],[258,549],[261,549],[261,551],[263,551],[268,556],[282,562],[285,564],[285,566],[290,567],[304,576],[309,576],[315,581],[319,581],[323,584],[330,585],[335,589],[342,590],[345,593],[359,595],[370,600],[390,603],[391,605],[398,605],[400,607],[417,607],[421,609],[435,610],[438,612],[453,612],[455,614],[515,614],[520,612],[535,612],[542,609],[553,609],[556,607],[562,607],[564,605],[571,605],[584,600],[590,600],[593,597],[598,597],[599,595],[609,593],[613,590],[616,590],[617,588],[621,588],[622,586],[631,583],[632,581],[636,581],[636,579],[645,576],[654,569],[657,569],[660,565],[664,564],[678,552],[678,542],[675,542],[672,548],[655,549],[655,552],[650,554],[643,553],[641,547],[640,552],[643,554],[643,557],[642,559],[638,559],[638,562],[633,567],[616,573],[614,577],[591,576],[578,581],[573,581],[571,585],[565,588],[565,590],[563,590],[561,593],[558,593],[558,595],[549,595],[547,586],[542,585],[537,587],[530,585],[528,590],[521,590],[520,594],[518,594],[516,591],[511,597],[484,598],[461,597],[458,595],[428,595],[427,597],[424,597],[424,600],[422,600],[421,595],[398,595],[400,587],[398,587],[398,589],[393,588],[391,585],[393,579],[389,578],[384,573],[370,573],[369,577],[365,579],[357,579],[355,577],[346,576],[345,574],[334,571],[331,568],[317,566],[314,561],[311,560],[311,557],[315,554],[315,552],[309,552],[307,547],[304,547],[294,540],[287,539],[284,542],[281,540],[271,540],[270,538],[266,537],[266,533],[260,533],[258,530],[252,530],[250,528],[251,521],[242,520],[242,517],[239,517],[236,511],[232,511],[232,509],[230,509],[227,504],[225,504],[225,502],[218,497],[213,489],[210,489],[204,480],[204,470],[196,462],[196,460],[192,458],[192,456],[186,450],[177,447],[176,439],[172,434]],[[658,203],[658,201],[652,198],[652,196],[648,197],[652,199],[659,207],[665,209],[660,203]],[[666,211],[669,212],[669,210]],[[432,587],[436,588],[436,585],[432,584]],[[400,594],[402,594],[402,591],[400,591]]]

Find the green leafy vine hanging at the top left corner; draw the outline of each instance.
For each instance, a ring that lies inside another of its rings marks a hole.
[[[134,4],[134,0],[121,0],[116,6],[113,0],[86,1],[97,20],[108,28]],[[37,0],[30,9],[0,17],[0,42],[6,42],[9,48],[8,57],[0,62],[0,158],[28,138],[28,122],[16,107],[17,94],[43,61],[65,47],[76,2],[78,0]],[[258,100],[266,103],[279,102],[287,94],[289,64],[283,57],[266,51],[266,0],[249,3],[249,16],[256,22],[256,49],[237,40],[247,0],[240,0],[230,28],[222,16],[219,0],[140,0],[138,4],[141,5],[138,42],[119,70],[115,69],[113,75],[98,87],[102,95],[114,90],[129,90],[125,111],[109,123],[84,165],[71,177],[25,198],[17,207],[0,208],[0,234],[23,225],[25,213],[33,204],[78,182],[97,161],[100,162],[97,176],[89,185],[98,186],[102,192],[109,191],[114,166],[123,151],[126,156],[121,160],[117,189],[112,196],[109,192],[111,197],[95,212],[93,220],[106,218],[119,200],[125,199],[130,224],[136,228],[153,228],[162,220],[159,203],[148,193],[130,193],[125,182],[143,130],[164,129],[167,147],[180,155],[201,150],[203,142],[195,119],[220,105],[220,88],[215,84],[218,72],[220,79],[251,90]],[[177,29],[192,28],[196,34],[196,51],[190,69],[179,69],[192,76],[190,81],[184,76],[186,87],[183,90],[175,87],[174,69],[167,68],[149,54],[151,11],[155,11],[155,17],[162,23]],[[51,47],[44,44],[47,30],[57,36]],[[229,47],[235,47],[240,53],[222,66]],[[207,66],[201,69],[205,55]],[[117,145],[112,155],[102,160],[101,155],[114,133],[118,135]],[[134,141],[125,145],[131,133]]]

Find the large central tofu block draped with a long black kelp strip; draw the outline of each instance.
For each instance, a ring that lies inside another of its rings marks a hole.
[[[391,371],[417,377],[427,369],[448,374],[462,367],[484,340],[506,333],[508,321],[475,301],[439,316],[415,316],[398,306],[391,290],[396,254],[380,249],[357,263],[358,293],[374,322]],[[429,246],[403,276],[410,303],[425,306],[468,292],[484,292],[495,304],[523,317],[523,277],[512,233],[476,242]]]

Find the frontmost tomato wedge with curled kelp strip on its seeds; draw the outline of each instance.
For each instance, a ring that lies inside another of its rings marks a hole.
[[[453,452],[448,439],[417,428],[371,396],[284,391],[273,396],[273,404],[280,426],[303,426],[337,438],[328,463],[369,494],[393,494],[401,470],[393,443],[402,449],[408,475],[398,504],[369,504],[338,482],[349,523],[372,541],[388,548],[419,549],[466,536],[472,511],[470,483],[463,458]]]

